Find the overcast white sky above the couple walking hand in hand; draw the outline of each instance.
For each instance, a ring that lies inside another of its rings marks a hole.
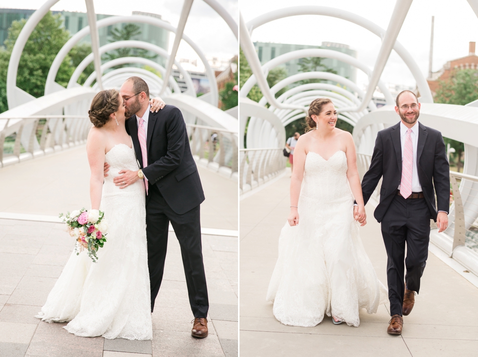
[[[248,22],[266,12],[299,5],[330,6],[355,13],[386,29],[395,0],[240,0],[239,7]],[[431,17],[435,16],[433,70],[450,59],[468,55],[468,43],[478,42],[478,18],[466,0],[415,0],[398,35],[398,41],[428,75]],[[296,16],[276,20],[254,30],[253,41],[319,45],[322,41],[350,45],[358,58],[373,68],[380,49],[380,39],[359,25],[324,16]],[[358,71],[359,85],[368,82]],[[385,83],[415,86],[404,62],[392,52],[381,78]]]

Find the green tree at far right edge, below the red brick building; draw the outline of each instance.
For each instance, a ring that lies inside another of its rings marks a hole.
[[[465,105],[478,99],[478,70],[462,69],[453,71],[450,79],[438,81],[436,103]],[[460,172],[463,169],[461,156],[465,151],[465,145],[457,140],[443,138],[445,145],[455,149],[450,154],[450,164],[457,167]]]

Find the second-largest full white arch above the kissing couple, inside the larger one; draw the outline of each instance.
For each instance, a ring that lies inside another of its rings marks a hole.
[[[117,48],[125,48],[125,47],[142,48],[142,49],[145,49],[145,50],[156,52],[163,57],[166,57],[166,56],[169,57],[169,55],[167,55],[166,50],[164,50],[163,48],[161,48],[159,46],[156,46],[154,44],[148,43],[148,42],[135,41],[135,40],[116,41],[116,42],[108,43],[108,44],[100,47],[100,54],[103,54],[107,51],[115,50]],[[88,56],[86,56],[80,62],[78,67],[73,72],[73,74],[72,74],[72,76],[71,76],[71,78],[68,82],[67,88],[71,88],[78,81],[78,79],[80,78],[81,73],[88,66],[88,64],[90,64],[92,61],[93,61],[93,54],[90,53]],[[193,81],[191,80],[191,77],[189,76],[189,74],[186,71],[184,71],[184,69],[181,67],[181,65],[179,64],[178,61],[174,61],[174,63],[177,65],[177,67],[179,69],[179,72],[181,74],[183,74],[183,76],[186,80],[186,85],[187,85],[188,91],[193,91],[194,92],[194,84],[193,84]],[[196,93],[196,92],[194,92],[194,93]]]

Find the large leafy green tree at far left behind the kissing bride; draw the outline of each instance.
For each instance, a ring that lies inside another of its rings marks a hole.
[[[26,20],[14,21],[8,29],[5,48],[0,49],[0,111],[8,109],[6,99],[6,77],[8,62],[13,46]],[[69,38],[69,32],[61,26],[60,15],[48,12],[33,30],[20,57],[17,86],[32,96],[43,96],[45,82],[53,59]],[[66,86],[73,73],[71,58],[67,56],[60,65],[55,79]]]

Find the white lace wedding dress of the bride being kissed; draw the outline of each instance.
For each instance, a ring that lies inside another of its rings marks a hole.
[[[121,169],[138,170],[133,148],[116,145],[105,160],[111,167],[100,210],[107,241],[96,263],[86,251],[72,253],[37,317],[70,321],[64,328],[76,336],[152,339],[144,183],[120,190],[113,182]]]

